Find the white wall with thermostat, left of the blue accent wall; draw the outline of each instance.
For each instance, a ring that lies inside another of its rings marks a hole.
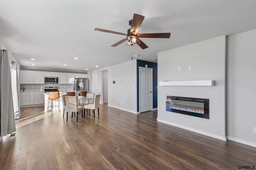
[[[108,106],[137,113],[137,62],[136,60],[92,70],[98,74],[98,93],[101,92],[102,70],[108,70]],[[113,84],[113,81],[116,83]],[[122,81],[122,82],[121,82]],[[132,86],[135,88],[132,89]],[[102,102],[102,99],[101,99]],[[120,102],[121,106],[117,106]]]

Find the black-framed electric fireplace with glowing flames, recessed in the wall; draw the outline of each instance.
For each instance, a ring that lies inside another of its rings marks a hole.
[[[166,96],[166,111],[209,119],[209,99]]]

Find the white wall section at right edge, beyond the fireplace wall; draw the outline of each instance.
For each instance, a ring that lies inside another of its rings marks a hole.
[[[256,29],[228,37],[228,139],[256,147]]]

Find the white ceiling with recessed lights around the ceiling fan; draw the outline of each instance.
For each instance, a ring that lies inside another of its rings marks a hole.
[[[144,50],[110,47],[125,36],[94,31],[127,33],[134,13],[145,16],[138,33],[170,39],[144,38]],[[131,56],[157,62],[160,51],[252,29],[256,0],[0,0],[0,38],[22,67],[37,69],[94,70]]]

